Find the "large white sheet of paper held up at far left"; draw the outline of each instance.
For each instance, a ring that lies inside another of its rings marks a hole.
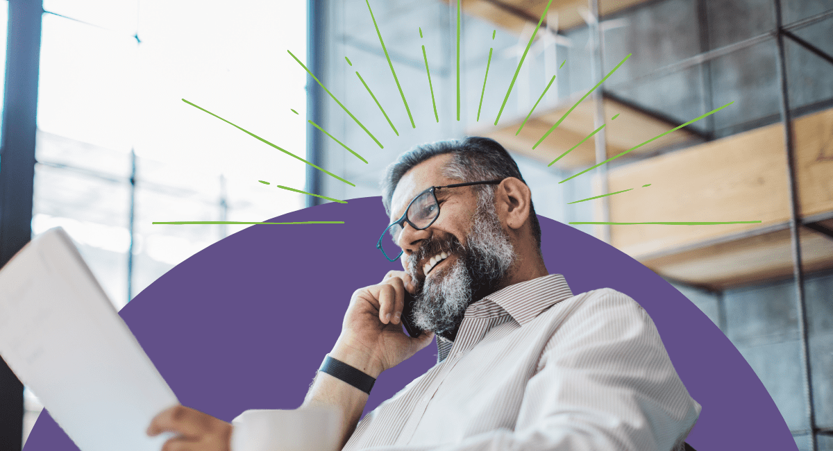
[[[177,397],[60,228],[0,270],[0,355],[82,451],[162,449]]]

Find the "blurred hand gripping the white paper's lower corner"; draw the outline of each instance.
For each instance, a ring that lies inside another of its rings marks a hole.
[[[151,437],[163,432],[174,432],[162,451],[229,451],[232,425],[199,410],[176,405],[158,414],[147,428]]]

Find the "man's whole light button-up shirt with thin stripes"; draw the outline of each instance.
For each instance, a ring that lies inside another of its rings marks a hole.
[[[651,318],[562,275],[470,305],[437,364],[357,425],[348,451],[681,449],[701,406]]]

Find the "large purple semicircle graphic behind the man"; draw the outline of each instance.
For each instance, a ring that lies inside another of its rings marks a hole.
[[[642,305],[674,367],[702,406],[686,440],[699,451],[796,449],[760,379],[729,339],[660,276],[591,235],[541,217],[550,273],[574,294],[610,287]],[[376,249],[387,226],[380,197],[294,211],[177,265],[121,315],[180,402],[231,421],[246,409],[296,409],[332,349],[354,290],[399,270]],[[430,344],[383,373],[365,412],[436,363]],[[44,411],[26,451],[77,447]]]

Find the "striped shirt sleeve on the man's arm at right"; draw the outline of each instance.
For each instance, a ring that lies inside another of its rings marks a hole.
[[[435,447],[374,451],[671,451],[701,406],[688,394],[651,318],[627,295],[588,293],[548,340],[514,430]]]

